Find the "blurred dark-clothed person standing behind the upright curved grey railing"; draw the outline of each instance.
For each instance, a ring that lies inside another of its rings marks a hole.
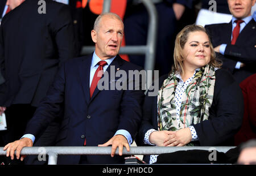
[[[192,8],[192,0],[150,0],[158,15],[156,35],[155,70],[159,75],[167,74],[174,63],[174,48],[177,22],[186,8]],[[126,45],[146,45],[148,32],[148,12],[137,0],[127,1],[125,24]],[[144,55],[129,55],[130,62],[144,67]]]

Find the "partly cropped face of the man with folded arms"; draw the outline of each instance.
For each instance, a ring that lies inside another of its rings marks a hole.
[[[243,19],[251,15],[251,7],[255,0],[228,0],[229,11],[237,19]]]

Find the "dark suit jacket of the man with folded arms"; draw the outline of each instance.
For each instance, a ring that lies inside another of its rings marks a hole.
[[[224,55],[217,53],[217,58],[223,61],[223,68],[227,68],[240,83],[250,75],[256,73],[256,22],[252,19],[241,31],[236,45],[231,45],[232,22],[205,25],[209,32],[213,47],[228,44]],[[245,67],[235,69],[237,61],[245,63]]]

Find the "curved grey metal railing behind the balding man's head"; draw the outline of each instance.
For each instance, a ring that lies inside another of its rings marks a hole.
[[[154,70],[155,65],[155,49],[156,49],[156,32],[158,24],[158,14],[154,3],[148,0],[141,0],[143,5],[148,11],[148,33],[147,33],[147,44],[146,45],[133,45],[133,46],[122,46],[119,50],[119,54],[139,54],[145,55],[144,70]],[[109,12],[111,6],[111,0],[104,0],[102,12]],[[92,53],[95,46],[83,46],[81,54]]]

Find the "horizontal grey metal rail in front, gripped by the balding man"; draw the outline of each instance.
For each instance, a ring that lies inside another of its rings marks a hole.
[[[42,154],[42,148],[44,153],[48,155],[48,165],[56,165],[57,157],[60,154],[109,154],[111,153],[111,147],[24,147],[20,154],[24,155],[38,155]],[[144,154],[162,154],[171,153],[176,151],[187,151],[192,149],[200,149],[205,151],[216,150],[218,152],[227,152],[229,149],[235,148],[230,147],[130,147],[130,152],[123,148],[123,154],[127,155],[144,155]],[[118,154],[118,149],[115,151]],[[3,147],[0,147],[0,156],[6,155],[6,151],[3,151]]]

